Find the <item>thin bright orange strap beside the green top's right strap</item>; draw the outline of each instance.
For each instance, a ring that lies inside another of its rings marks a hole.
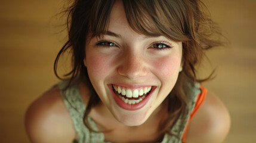
[[[206,95],[206,93],[207,93],[207,89],[206,89],[206,88],[203,88],[202,85],[201,85],[200,89],[201,89],[201,93],[198,94],[198,98],[196,99],[195,108],[194,108],[194,110],[192,111],[192,113],[190,114],[189,122],[193,119],[193,117],[195,116],[196,112],[199,110],[199,108],[201,107],[203,101],[205,100],[205,95]],[[184,133],[183,133],[182,142],[185,142],[186,135],[187,135],[187,129],[188,129],[188,128],[189,128],[189,123],[187,123],[186,129],[185,129],[185,131],[184,131]]]

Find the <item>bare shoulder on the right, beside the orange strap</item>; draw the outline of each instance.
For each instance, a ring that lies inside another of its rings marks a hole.
[[[189,123],[187,143],[221,143],[230,128],[230,116],[227,108],[212,92],[207,92],[205,101]]]

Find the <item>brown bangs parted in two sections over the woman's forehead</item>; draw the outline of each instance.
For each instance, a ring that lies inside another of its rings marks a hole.
[[[124,0],[124,10],[129,26],[146,36],[165,36],[176,42],[188,41],[182,4],[172,1]],[[95,2],[92,8],[89,37],[106,34],[114,0]]]

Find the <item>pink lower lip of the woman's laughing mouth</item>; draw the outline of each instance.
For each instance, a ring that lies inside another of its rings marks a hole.
[[[144,98],[142,101],[140,101],[137,104],[126,104],[124,101],[122,101],[112,90],[112,85],[108,85],[110,92],[113,95],[114,100],[116,101],[116,104],[119,105],[119,107],[124,108],[125,110],[138,110],[142,107],[144,107],[144,105],[147,104],[147,101],[149,101],[150,97],[152,96],[153,91],[155,91],[156,86],[152,86],[152,91],[150,92],[149,95],[147,95],[146,98]]]

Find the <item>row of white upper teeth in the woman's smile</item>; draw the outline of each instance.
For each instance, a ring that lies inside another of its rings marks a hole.
[[[120,86],[116,86],[113,85],[114,89],[116,92],[118,92],[118,94],[122,94],[124,96],[126,96],[127,98],[137,98],[138,96],[142,96],[144,94],[149,93],[149,91],[151,90],[152,86],[150,87],[145,87],[145,88],[140,88],[140,89],[133,89],[133,91],[131,89],[125,89],[122,88]]]

